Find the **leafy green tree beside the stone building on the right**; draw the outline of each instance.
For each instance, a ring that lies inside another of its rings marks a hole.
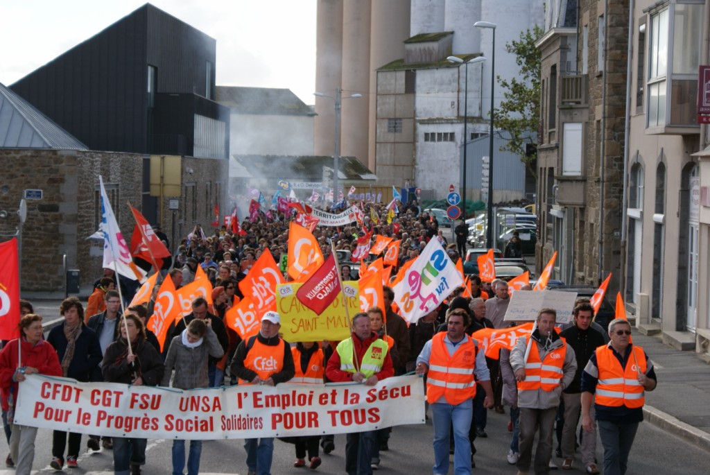
[[[537,179],[537,131],[540,128],[540,62],[542,55],[535,43],[542,38],[542,28],[535,26],[520,33],[520,40],[506,43],[506,51],[515,54],[520,74],[510,80],[498,76],[503,101],[494,111],[498,136],[509,140],[502,150],[520,156],[530,174]]]

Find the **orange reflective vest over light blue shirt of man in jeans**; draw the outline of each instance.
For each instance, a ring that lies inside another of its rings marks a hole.
[[[456,346],[454,354],[444,343],[447,332],[439,332],[432,338],[432,354],[427,371],[427,402],[435,403],[444,396],[447,403],[457,405],[476,395],[476,344],[466,335],[466,340]]]

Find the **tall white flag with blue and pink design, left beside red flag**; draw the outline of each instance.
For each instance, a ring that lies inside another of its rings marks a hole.
[[[116,222],[101,175],[99,175],[99,186],[101,187],[101,228],[104,231],[104,268],[114,269],[129,279],[142,282],[146,278],[146,273],[133,263],[131,251]]]

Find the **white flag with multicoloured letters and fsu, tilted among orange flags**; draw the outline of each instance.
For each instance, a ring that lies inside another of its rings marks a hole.
[[[438,307],[450,293],[464,283],[452,260],[432,239],[405,276],[392,289],[402,316],[410,323]]]

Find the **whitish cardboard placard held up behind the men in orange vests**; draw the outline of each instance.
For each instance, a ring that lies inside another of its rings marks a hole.
[[[557,310],[557,323],[565,324],[572,320],[577,292],[563,290],[515,290],[510,297],[508,310],[503,320],[507,322],[529,322],[537,320],[541,308]]]

